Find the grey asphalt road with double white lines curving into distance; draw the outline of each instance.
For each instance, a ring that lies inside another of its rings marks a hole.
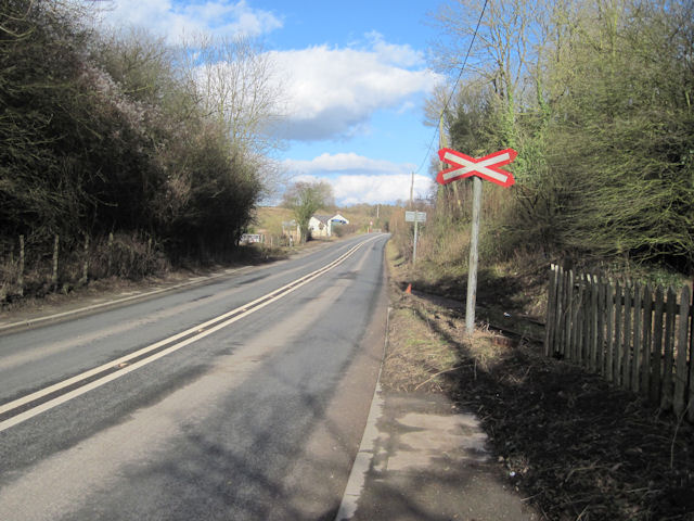
[[[333,519],[383,355],[386,241],[0,336],[0,519]]]

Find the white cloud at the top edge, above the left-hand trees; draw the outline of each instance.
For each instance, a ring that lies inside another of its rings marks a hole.
[[[102,18],[110,26],[144,27],[165,36],[171,43],[181,43],[200,34],[254,37],[282,27],[281,18],[269,11],[252,9],[245,0],[184,5],[171,0],[111,0]]]

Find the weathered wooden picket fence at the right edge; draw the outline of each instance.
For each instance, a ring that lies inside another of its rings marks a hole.
[[[690,289],[606,280],[552,265],[544,350],[694,422]]]

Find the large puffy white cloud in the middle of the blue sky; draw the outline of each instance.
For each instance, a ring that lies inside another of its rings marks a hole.
[[[427,68],[403,66],[421,62],[409,46],[390,46],[380,35],[371,40],[371,50],[318,46],[270,52],[290,107],[275,128],[280,137],[317,141],[363,132],[374,112],[415,107],[412,100],[439,81]]]

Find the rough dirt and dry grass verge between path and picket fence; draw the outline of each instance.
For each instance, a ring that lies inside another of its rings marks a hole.
[[[460,294],[433,295],[430,283],[407,294],[408,270],[390,264],[384,386],[446,393],[475,411],[500,470],[548,520],[694,520],[694,425],[545,357],[530,340],[537,320],[509,306],[527,304],[510,290],[523,281],[505,281],[502,304],[489,293],[483,303],[510,309],[506,330],[525,319],[535,334],[502,334],[483,318],[470,342]]]

